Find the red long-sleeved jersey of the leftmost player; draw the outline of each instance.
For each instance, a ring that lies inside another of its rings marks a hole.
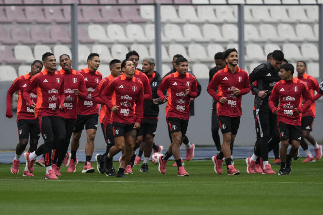
[[[23,90],[30,84],[30,73],[18,77],[11,85],[7,92],[7,113],[11,112],[11,102],[13,94],[18,90],[18,107],[17,107],[17,122],[20,119],[35,119],[34,109],[29,108],[27,101],[22,97]],[[29,98],[33,102],[37,102],[36,89],[32,89],[29,93]]]

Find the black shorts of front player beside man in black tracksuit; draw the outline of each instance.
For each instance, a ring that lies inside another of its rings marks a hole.
[[[302,130],[299,125],[290,125],[284,122],[278,122],[278,130],[281,136],[281,140],[301,140]]]

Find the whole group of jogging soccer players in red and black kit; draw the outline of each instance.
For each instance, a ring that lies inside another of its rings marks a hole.
[[[255,94],[254,117],[256,143],[252,156],[246,159],[247,173],[275,174],[268,163],[268,152],[280,148],[279,175],[291,172],[292,158],[298,154],[299,145],[307,158],[313,162],[322,156],[321,146],[309,134],[315,117],[315,103],[323,94],[323,82],[305,73],[306,63],[297,62],[297,78],[293,78],[294,66],[284,63],[280,50],[271,53],[268,61],[258,65],[250,75],[238,67],[235,48],[214,56],[216,67],[209,71],[207,92],[213,98],[212,138],[219,153],[211,158],[214,171],[223,173],[225,160],[227,173],[238,175],[233,162],[233,145],[242,115],[242,96],[250,90]],[[98,117],[106,143],[106,151],[95,155],[97,170],[106,176],[128,177],[133,165],[139,165],[144,154],[141,172],[149,172],[151,152],[160,153],[162,146],[155,145],[160,104],[166,104],[166,121],[171,138],[165,155],[158,154],[158,171],[166,174],[166,164],[173,156],[178,176],[189,176],[181,158],[180,146],[186,146],[186,161],[194,156],[195,145],[186,136],[190,115],[194,114],[194,99],[201,86],[188,71],[188,60],[180,54],[173,57],[173,69],[164,78],[154,70],[154,59],[143,58],[142,71],[137,69],[139,54],[130,51],[126,59],[110,62],[111,75],[102,79],[97,71],[100,58],[90,53],[88,67],[78,71],[72,68],[68,54],[59,56],[62,67],[57,71],[55,55],[46,52],[42,61],[31,64],[30,73],[18,77],[7,93],[6,116],[13,117],[11,102],[18,91],[17,125],[19,143],[11,172],[18,174],[21,155],[26,160],[23,176],[34,176],[34,163],[46,168],[45,179],[62,176],[61,165],[68,166],[68,173],[76,171],[76,152],[80,145],[82,130],[86,129],[85,165],[82,173],[93,173],[91,158]],[[44,69],[42,69],[44,67]],[[198,71],[196,71],[198,72]],[[318,94],[314,95],[314,91]],[[99,112],[99,104],[101,109]],[[190,108],[191,107],[191,108]],[[193,110],[193,113],[192,113]],[[223,134],[220,144],[219,128]],[[42,135],[44,143],[37,148]],[[26,149],[30,136],[30,148]],[[71,138],[72,137],[72,138]],[[304,139],[315,148],[315,159]],[[71,142],[71,153],[68,148]],[[291,145],[289,154],[287,148]],[[139,148],[139,154],[136,150]],[[120,166],[116,171],[113,157],[122,152]]]

